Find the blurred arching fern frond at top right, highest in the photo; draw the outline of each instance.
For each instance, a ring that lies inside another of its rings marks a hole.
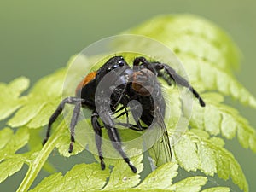
[[[239,67],[241,54],[236,44],[211,21],[195,15],[161,15],[125,33],[154,38],[176,54],[193,55],[216,63],[226,73]]]

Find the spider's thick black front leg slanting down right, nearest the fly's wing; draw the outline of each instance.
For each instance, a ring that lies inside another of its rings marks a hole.
[[[103,117],[102,120],[103,120],[104,126],[106,127],[106,129],[108,131],[108,137],[110,138],[110,140],[113,144],[113,147],[123,157],[123,159],[128,164],[128,166],[130,166],[131,171],[136,173],[137,168],[132,165],[131,160],[127,157],[127,155],[125,154],[125,151],[122,148],[122,143],[121,143],[121,139],[119,137],[119,132],[117,131],[116,128],[114,128],[114,122],[113,122],[113,119],[111,118],[110,113],[108,113],[108,111],[104,110],[102,112],[101,117]]]

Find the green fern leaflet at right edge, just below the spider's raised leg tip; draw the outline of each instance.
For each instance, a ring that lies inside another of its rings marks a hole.
[[[221,103],[223,96],[207,93],[203,97],[207,101],[207,108],[194,105],[191,126],[204,129],[213,136],[222,135],[227,139],[237,136],[241,146],[256,152],[256,131],[248,124],[247,119],[241,117],[235,108]]]

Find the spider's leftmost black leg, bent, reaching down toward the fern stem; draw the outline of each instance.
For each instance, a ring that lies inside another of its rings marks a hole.
[[[76,104],[78,102],[84,102],[84,99],[78,97],[67,97],[61,101],[55,112],[50,116],[49,123],[47,126],[46,137],[44,138],[43,145],[48,141],[51,131],[51,125],[55,122],[57,117],[61,114],[65,104]]]

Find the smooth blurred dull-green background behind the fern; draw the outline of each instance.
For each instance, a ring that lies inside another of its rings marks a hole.
[[[253,0],[108,0],[108,1],[0,1],[0,81],[21,75],[32,83],[55,69],[89,44],[118,34],[155,15],[190,13],[222,27],[241,49],[243,58],[236,77],[254,96],[256,2]],[[255,110],[236,106],[256,127]],[[227,148],[241,163],[250,191],[256,191],[256,154],[235,141]],[[1,172],[1,171],[0,171]],[[0,191],[15,191],[20,183],[0,184]]]

